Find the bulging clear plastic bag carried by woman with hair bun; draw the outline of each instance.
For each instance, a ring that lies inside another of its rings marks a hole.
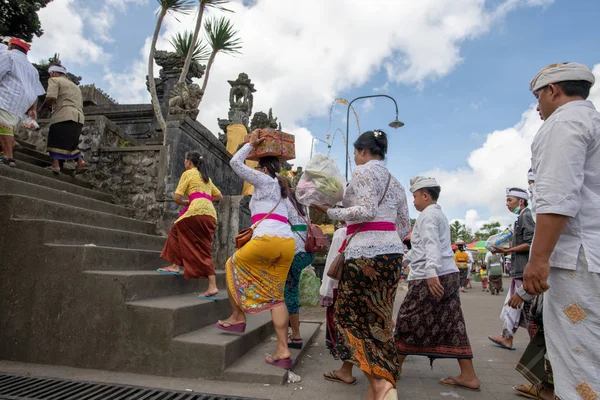
[[[333,206],[344,199],[346,181],[335,161],[316,154],[296,186],[296,198],[305,206]]]

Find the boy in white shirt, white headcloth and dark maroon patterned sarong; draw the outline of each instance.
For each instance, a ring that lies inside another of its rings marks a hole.
[[[473,351],[460,304],[460,274],[454,262],[448,218],[437,204],[441,188],[434,178],[410,180],[414,205],[421,214],[412,231],[408,293],[396,322],[400,372],[408,355],[456,358],[460,375],[440,380],[443,385],[480,390],[473,368]]]

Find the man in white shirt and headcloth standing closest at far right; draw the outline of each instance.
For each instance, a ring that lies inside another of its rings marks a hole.
[[[531,81],[544,123],[531,145],[537,223],[525,290],[544,295],[544,328],[561,399],[600,398],[600,113],[582,64]]]

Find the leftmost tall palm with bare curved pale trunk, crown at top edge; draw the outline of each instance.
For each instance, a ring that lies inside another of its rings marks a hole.
[[[192,0],[157,0],[160,5],[158,11],[158,19],[156,20],[156,27],[154,28],[154,35],[152,36],[152,44],[150,45],[150,55],[148,56],[148,85],[150,88],[150,96],[152,96],[152,106],[154,108],[154,114],[158,120],[158,124],[163,131],[163,145],[167,142],[167,123],[162,115],[160,104],[158,102],[158,95],[156,94],[156,84],[154,82],[154,53],[156,52],[156,42],[158,41],[158,35],[160,34],[160,28],[162,22],[165,19],[165,15],[168,12],[171,13],[187,13],[191,10]]]

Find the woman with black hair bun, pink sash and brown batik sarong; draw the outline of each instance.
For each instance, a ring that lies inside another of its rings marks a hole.
[[[392,309],[410,231],[406,193],[384,164],[382,131],[368,131],[354,143],[356,170],[344,208],[320,207],[348,224],[345,265],[335,302],[337,354],[369,380],[367,399],[396,399],[398,353]]]

